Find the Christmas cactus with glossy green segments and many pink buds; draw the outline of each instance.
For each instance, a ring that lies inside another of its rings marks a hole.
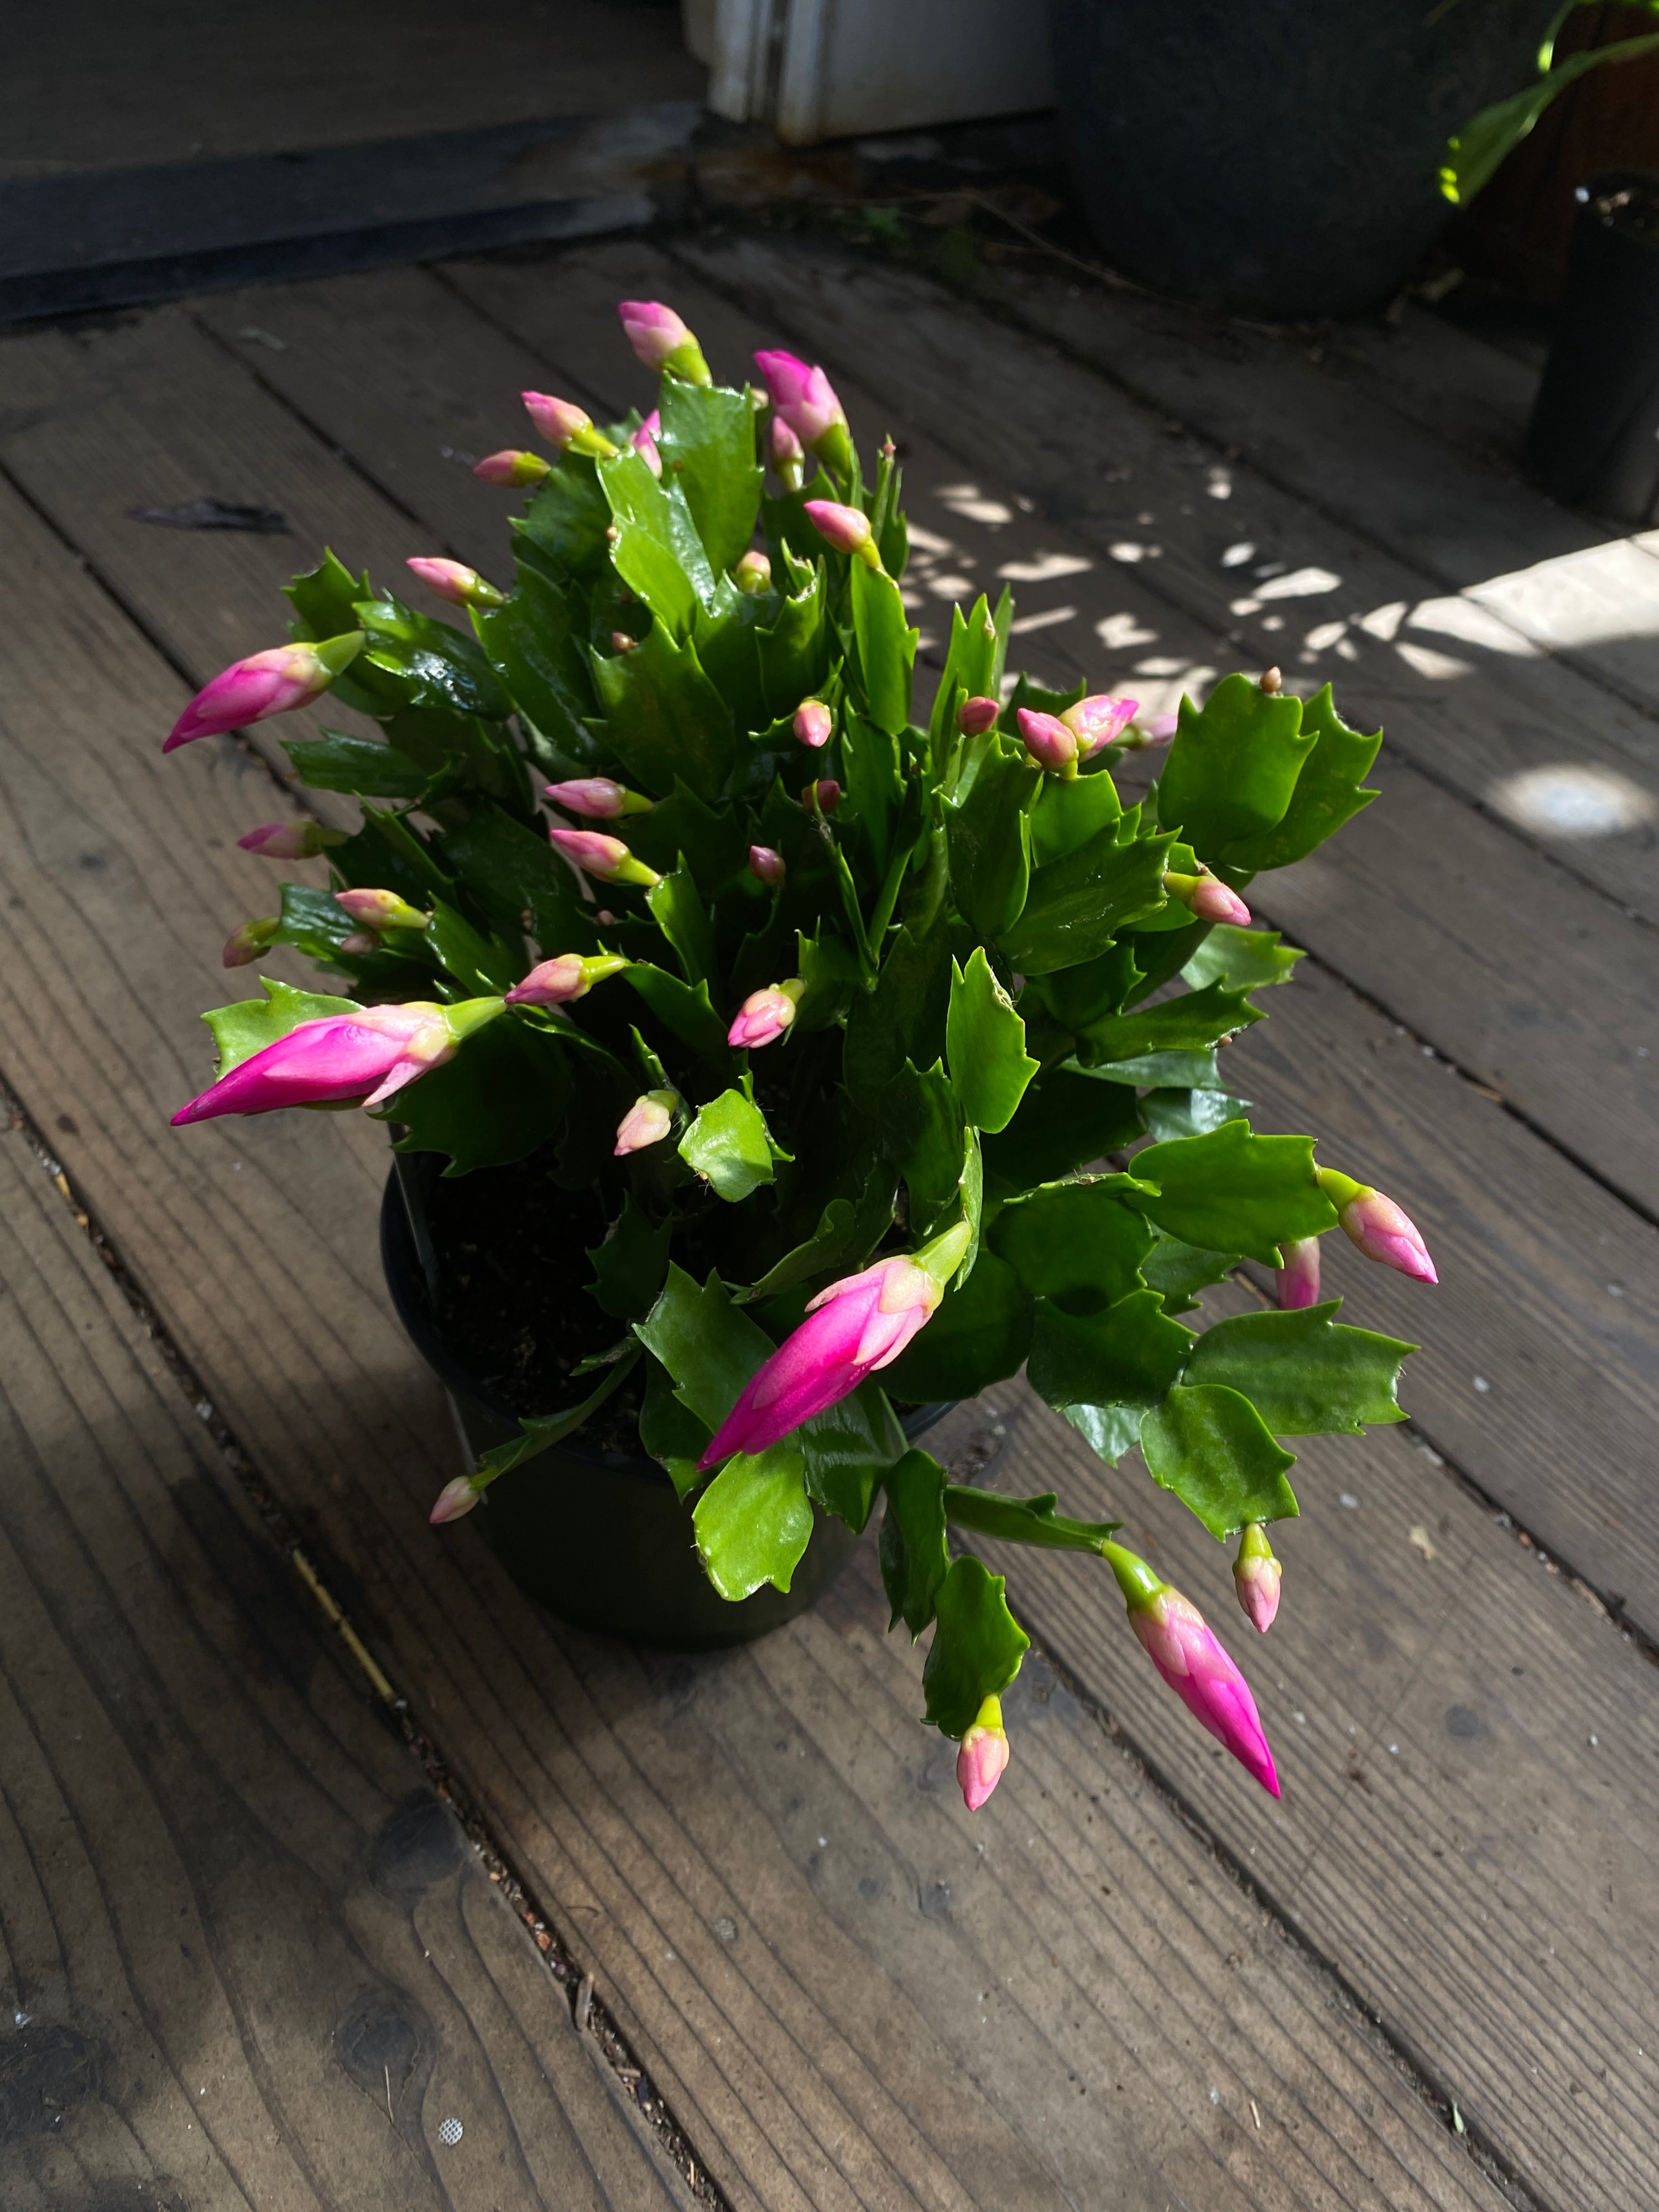
[[[529,493],[511,586],[416,557],[460,608],[434,619],[327,555],[288,591],[292,644],[173,732],[327,690],[358,730],[288,752],[361,801],[352,834],[243,838],[325,854],[332,889],[283,885],[226,962],[294,947],[330,991],[265,980],[206,1015],[219,1073],[177,1119],[361,1104],[449,1177],[533,1159],[602,1192],[608,1234],[571,1270],[604,1349],[436,1522],[540,1480],[526,1462],[626,1385],[728,1599],[787,1590],[814,1511],[860,1531],[880,1502],[894,1626],[933,1632],[927,1719],[971,1807],[1026,1635],[953,1535],[1104,1557],[1164,1679],[1276,1792],[1243,1674],[1117,1524],[949,1480],[894,1409],[1026,1367],[1106,1464],[1139,1444],[1237,1540],[1267,1628],[1281,1440],[1402,1418],[1411,1347],[1318,1303],[1318,1239],[1433,1267],[1312,1139],[1252,1133],[1217,1048],[1298,958],[1250,927],[1252,876],[1374,796],[1378,739],[1272,675],[1148,728],[1011,679],[1006,593],[953,611],[918,717],[894,447],[867,476],[790,354],[726,387],[668,307],[622,321],[650,414],[599,429],[526,394],[551,458],[478,467]],[[1113,768],[1164,741],[1126,803]],[[1243,1259],[1279,1270],[1279,1312],[1194,1332]]]

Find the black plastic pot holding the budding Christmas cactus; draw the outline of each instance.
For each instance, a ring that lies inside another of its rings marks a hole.
[[[431,1155],[394,1166],[380,1201],[380,1261],[392,1303],[416,1352],[449,1391],[471,1467],[480,1451],[518,1436],[518,1416],[456,1358],[434,1321],[436,1252],[425,1192]],[[949,1407],[918,1407],[905,1420],[920,1436]],[[858,1548],[834,1515],[816,1513],[812,1542],[787,1593],[759,1588],[728,1604],[703,1575],[690,1506],[644,1453],[602,1451],[582,1433],[553,1444],[484,1491],[476,1517],[522,1590],[575,1621],[666,1650],[752,1644],[792,1621],[830,1588]]]

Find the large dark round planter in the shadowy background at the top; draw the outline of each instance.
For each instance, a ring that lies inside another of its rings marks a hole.
[[[1110,259],[1261,321],[1387,301],[1436,170],[1522,91],[1555,0],[1053,0],[1073,179]]]

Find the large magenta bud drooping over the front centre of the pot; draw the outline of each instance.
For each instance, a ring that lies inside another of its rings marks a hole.
[[[801,1327],[743,1385],[697,1464],[708,1469],[734,1451],[765,1451],[896,1360],[938,1307],[969,1239],[969,1225],[958,1223],[909,1259],[876,1261],[821,1290]]]

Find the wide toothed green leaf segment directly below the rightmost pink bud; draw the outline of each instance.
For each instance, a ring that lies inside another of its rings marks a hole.
[[[1274,1436],[1363,1436],[1367,1422],[1405,1420],[1396,1391],[1416,1345],[1338,1325],[1340,1303],[1219,1321],[1199,1338],[1186,1380],[1237,1389]]]

